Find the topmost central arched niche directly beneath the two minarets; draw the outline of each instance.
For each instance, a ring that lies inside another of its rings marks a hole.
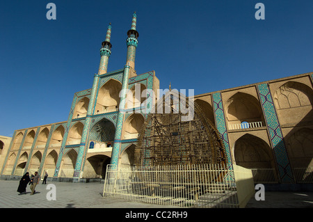
[[[120,104],[120,90],[122,84],[120,81],[110,79],[104,84],[98,92],[95,114],[118,109]]]

